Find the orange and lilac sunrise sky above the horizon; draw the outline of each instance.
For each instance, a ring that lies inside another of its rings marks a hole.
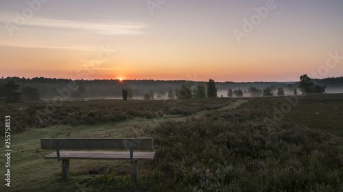
[[[342,0],[0,0],[0,77],[340,77],[342,10]]]

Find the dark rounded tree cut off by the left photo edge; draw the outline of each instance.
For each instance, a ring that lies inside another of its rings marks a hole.
[[[1,83],[0,100],[4,100],[5,102],[21,102],[21,95],[23,93],[19,92],[19,86],[14,81]]]

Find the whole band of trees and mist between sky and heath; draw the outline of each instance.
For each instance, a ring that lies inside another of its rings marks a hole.
[[[32,79],[19,77],[1,78],[0,102],[40,100],[42,97],[43,99],[54,98],[54,96],[56,96],[56,93],[54,92],[56,92],[58,88],[62,89],[63,87],[66,87],[67,83],[70,83],[71,81],[73,80],[49,79],[43,77]],[[263,82],[255,83],[256,85],[259,85],[259,87],[261,87],[261,85],[270,85],[263,89],[252,86],[255,85],[254,83],[215,83],[213,79],[209,79],[208,82],[154,80],[129,80],[126,83],[116,80],[75,80],[74,82],[78,85],[78,90],[72,92],[70,98],[122,96],[124,100],[127,100],[134,98],[134,96],[139,96],[143,99],[185,99],[205,97],[216,98],[218,97],[218,86],[223,89],[228,85],[236,87],[227,90],[226,95],[228,97],[241,97],[246,94],[250,94],[250,96],[283,96],[285,95],[285,92],[297,94],[298,90],[303,94],[324,93],[327,88],[324,82],[330,82],[332,85],[340,85],[342,87],[343,77],[311,79],[307,74],[303,74],[300,76],[300,81],[287,85],[285,83],[274,83],[274,85]],[[243,87],[237,88],[238,85],[242,85]],[[245,88],[244,90],[244,86],[246,85],[250,85],[250,87]],[[169,92],[165,92],[167,88],[169,88]],[[173,92],[172,90],[175,91]],[[223,96],[221,95],[220,97]]]

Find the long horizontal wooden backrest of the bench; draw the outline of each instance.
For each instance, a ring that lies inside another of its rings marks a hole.
[[[49,138],[40,139],[43,150],[152,150],[152,138]]]

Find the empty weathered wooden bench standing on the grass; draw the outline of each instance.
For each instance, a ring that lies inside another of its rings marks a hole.
[[[137,160],[154,159],[152,138],[51,138],[40,139],[40,146],[43,150],[56,150],[51,152],[44,159],[62,160],[62,181],[69,180],[70,159],[130,159],[132,163],[132,181],[137,182]],[[63,151],[62,151],[63,150]],[[73,150],[73,151],[64,151]],[[93,150],[93,151],[75,151]],[[126,151],[94,151],[94,150],[126,150]],[[129,150],[129,151],[128,151]],[[134,151],[150,150],[150,151]]]

